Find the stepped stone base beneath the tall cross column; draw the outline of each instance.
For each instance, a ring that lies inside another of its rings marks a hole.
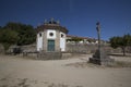
[[[105,50],[96,50],[96,52],[93,54],[93,58],[90,58],[90,62],[98,65],[112,65],[114,59],[110,59],[109,55],[107,55]]]

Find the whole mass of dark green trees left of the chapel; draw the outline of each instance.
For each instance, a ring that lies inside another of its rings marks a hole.
[[[4,50],[11,45],[31,45],[36,40],[36,32],[31,25],[9,22],[5,26],[0,26],[0,44]]]

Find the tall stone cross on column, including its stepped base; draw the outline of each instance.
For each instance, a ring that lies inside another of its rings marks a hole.
[[[100,23],[96,23],[96,30],[98,35],[98,50],[93,54],[93,58],[90,58],[90,62],[99,65],[112,65],[114,59],[110,59],[100,45]]]

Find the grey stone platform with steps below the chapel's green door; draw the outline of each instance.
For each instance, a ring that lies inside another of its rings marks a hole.
[[[39,52],[37,53],[38,60],[59,60],[61,59],[61,52]]]

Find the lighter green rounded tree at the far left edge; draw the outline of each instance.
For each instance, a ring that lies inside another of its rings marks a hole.
[[[7,51],[10,46],[15,45],[19,40],[17,33],[9,28],[0,29],[0,44]]]

